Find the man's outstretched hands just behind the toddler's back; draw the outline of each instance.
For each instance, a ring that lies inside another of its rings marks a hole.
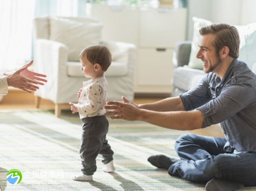
[[[105,109],[110,119],[124,119],[128,121],[140,120],[141,109],[133,102],[127,100],[124,96],[123,102],[107,102]]]

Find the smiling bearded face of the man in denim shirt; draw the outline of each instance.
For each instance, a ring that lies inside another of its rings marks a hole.
[[[205,73],[217,72],[222,62],[220,55],[216,54],[213,42],[214,34],[203,35],[199,41],[199,51],[196,57],[203,61],[203,72]]]

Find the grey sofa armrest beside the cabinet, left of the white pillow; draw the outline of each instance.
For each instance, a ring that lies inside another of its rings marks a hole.
[[[174,68],[189,64],[191,51],[191,41],[177,42],[173,52],[172,63]]]

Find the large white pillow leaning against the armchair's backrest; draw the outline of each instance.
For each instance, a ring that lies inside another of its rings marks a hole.
[[[68,61],[79,61],[80,52],[101,40],[102,23],[78,22],[63,17],[50,17],[49,39],[69,48]]]

